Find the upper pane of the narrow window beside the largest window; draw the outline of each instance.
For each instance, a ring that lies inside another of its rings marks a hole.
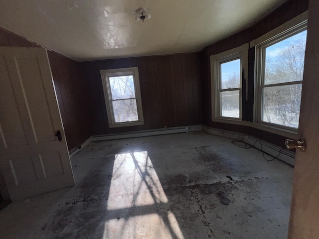
[[[221,89],[240,87],[240,59],[220,64]]]

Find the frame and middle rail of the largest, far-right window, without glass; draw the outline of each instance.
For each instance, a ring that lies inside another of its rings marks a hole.
[[[303,15],[304,17],[304,15]],[[255,122],[263,124],[265,126],[270,126],[277,128],[279,130],[285,130],[297,133],[298,128],[290,127],[286,125],[271,123],[262,120],[263,114],[263,89],[268,87],[276,87],[276,86],[289,86],[289,85],[297,85],[303,84],[303,81],[294,81],[294,82],[285,82],[285,83],[275,83],[275,84],[264,84],[265,81],[265,57],[266,57],[266,48],[274,45],[280,41],[283,41],[291,36],[294,36],[302,31],[307,30],[307,22],[308,20],[302,19],[299,23],[295,23],[293,26],[286,27],[286,29],[281,29],[281,32],[277,34],[273,33],[272,36],[266,34],[262,36],[260,39],[256,40],[255,43]]]

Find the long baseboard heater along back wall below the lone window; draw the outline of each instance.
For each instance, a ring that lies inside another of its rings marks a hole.
[[[91,136],[91,142],[121,139],[121,138],[135,138],[135,137],[145,137],[153,135],[171,134],[171,133],[187,133],[188,127],[172,127],[154,130],[141,130],[128,133],[117,133],[117,134],[103,134]]]

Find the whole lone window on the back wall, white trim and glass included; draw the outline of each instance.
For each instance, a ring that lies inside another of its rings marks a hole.
[[[101,70],[110,127],[144,124],[137,67]]]

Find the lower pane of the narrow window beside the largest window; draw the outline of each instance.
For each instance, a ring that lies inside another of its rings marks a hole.
[[[239,91],[221,92],[221,116],[239,118]]]

